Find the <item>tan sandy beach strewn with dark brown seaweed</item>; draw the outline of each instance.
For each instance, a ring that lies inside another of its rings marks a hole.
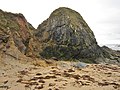
[[[0,90],[120,90],[120,67],[54,60],[0,61]]]

